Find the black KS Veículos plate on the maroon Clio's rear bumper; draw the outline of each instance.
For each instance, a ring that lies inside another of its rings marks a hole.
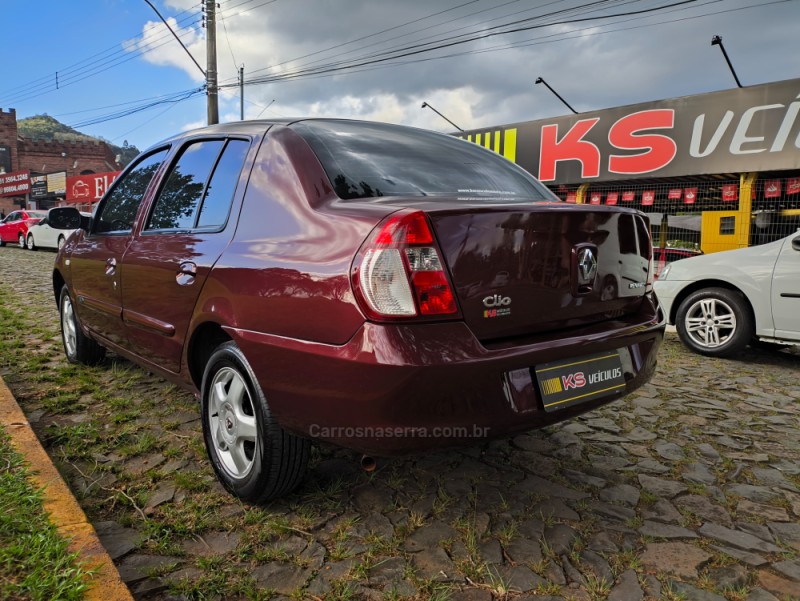
[[[543,363],[536,366],[534,374],[548,413],[625,391],[616,350]]]

